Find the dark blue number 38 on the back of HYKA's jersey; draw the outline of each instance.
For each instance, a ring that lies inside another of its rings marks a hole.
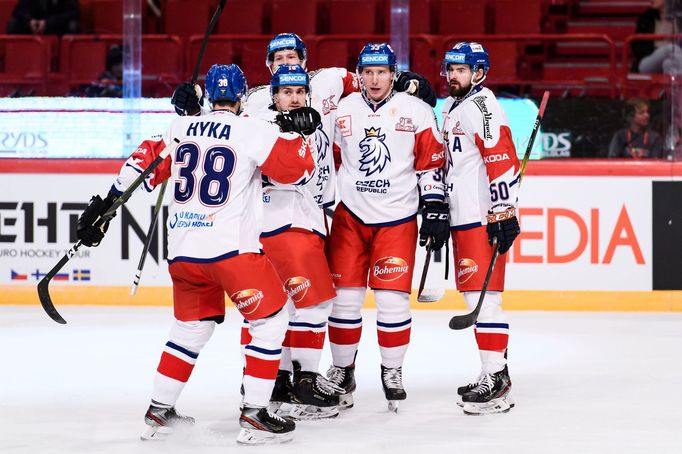
[[[186,203],[199,187],[199,200],[206,206],[220,206],[230,197],[230,177],[234,172],[235,155],[232,149],[216,146],[203,154],[202,174],[198,178],[196,169],[202,157],[199,147],[185,143],[175,150],[175,163],[180,167],[175,182],[175,200]]]

